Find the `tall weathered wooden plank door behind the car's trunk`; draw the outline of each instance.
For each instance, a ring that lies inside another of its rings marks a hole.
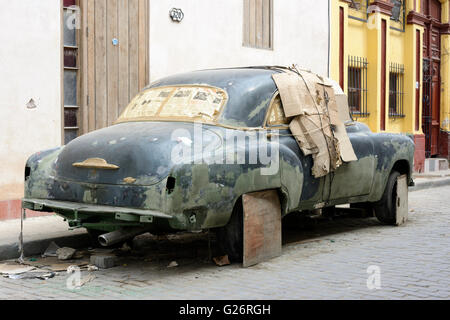
[[[83,132],[110,126],[148,84],[148,0],[82,1]]]

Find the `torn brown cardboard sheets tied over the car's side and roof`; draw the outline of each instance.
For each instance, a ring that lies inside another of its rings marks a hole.
[[[342,161],[356,161],[342,111],[332,84],[313,73],[299,71],[273,75],[290,129],[305,155],[312,155],[313,175],[335,171]]]

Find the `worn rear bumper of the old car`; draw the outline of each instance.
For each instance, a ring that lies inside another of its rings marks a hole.
[[[127,217],[134,217],[136,222],[152,222],[153,218],[160,219],[172,219],[173,216],[153,211],[153,210],[142,210],[142,209],[134,209],[134,208],[125,208],[125,207],[113,207],[113,206],[102,206],[102,205],[92,205],[85,203],[77,203],[77,202],[68,202],[68,201],[55,201],[55,200],[46,200],[46,199],[22,199],[22,208],[30,209],[33,211],[44,211],[44,212],[67,212],[74,215],[78,213],[103,213],[103,214],[111,214],[117,220],[126,220]],[[121,219],[122,218],[122,219]]]

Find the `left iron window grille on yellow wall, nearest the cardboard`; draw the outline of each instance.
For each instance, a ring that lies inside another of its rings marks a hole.
[[[348,104],[355,117],[368,117],[367,58],[348,57]]]

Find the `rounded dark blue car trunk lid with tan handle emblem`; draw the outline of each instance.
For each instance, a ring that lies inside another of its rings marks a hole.
[[[179,134],[178,134],[179,133]],[[202,127],[203,141],[219,139]],[[173,165],[174,147],[194,137],[194,124],[128,122],[97,130],[70,142],[59,155],[56,178],[91,184],[156,184]]]

